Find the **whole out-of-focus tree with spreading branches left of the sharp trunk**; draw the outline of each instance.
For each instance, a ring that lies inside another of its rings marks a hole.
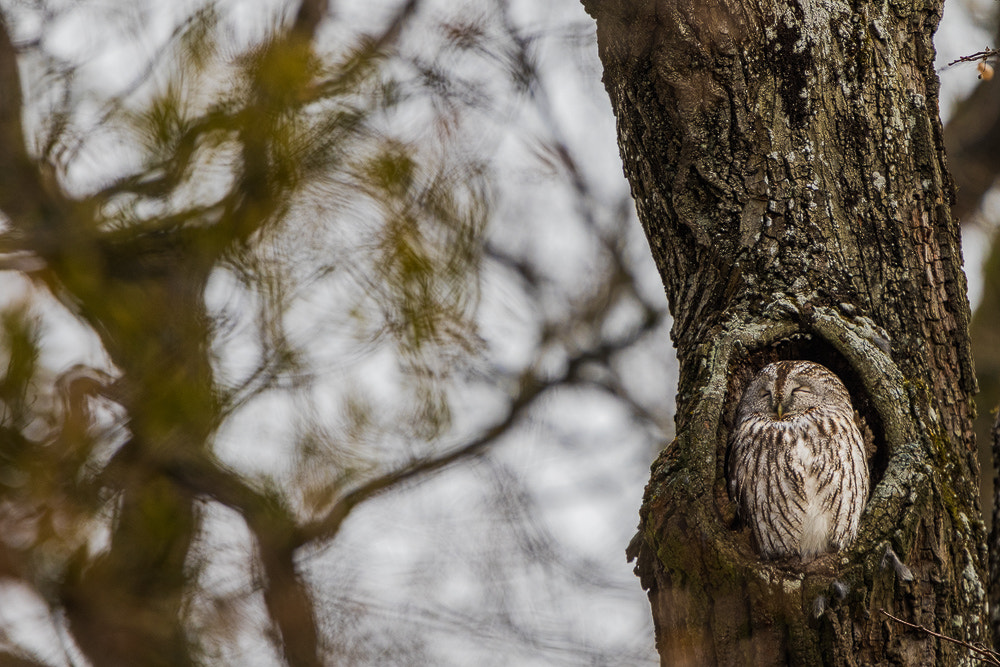
[[[566,548],[545,506],[621,485],[602,472],[553,503],[529,477],[607,449],[567,403],[611,412],[641,466],[663,437],[666,409],[623,370],[666,320],[629,261],[627,200],[577,162],[539,37],[505,2],[400,2],[362,33],[327,5],[3,6],[4,664],[649,657],[646,626],[608,638],[574,612],[641,594]],[[91,23],[135,57],[124,82],[52,38]],[[561,247],[497,232],[523,215],[495,222],[497,98],[532,100],[515,139],[559,185],[552,220],[524,227],[572,229],[585,280],[559,275]],[[52,329],[94,352],[52,363]],[[469,507],[427,500],[438,487]],[[423,550],[393,544],[404,523]],[[32,632],[15,632],[26,592]]]

